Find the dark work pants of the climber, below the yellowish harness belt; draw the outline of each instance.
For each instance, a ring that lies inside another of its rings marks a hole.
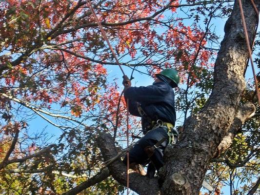
[[[166,140],[160,144],[160,146],[154,151],[154,154],[149,158],[144,151],[147,146],[153,146],[162,138],[166,137]],[[141,165],[146,165],[149,162],[155,166],[156,170],[164,165],[163,162],[163,152],[168,144],[167,129],[164,127],[159,127],[148,131],[144,137],[140,138],[138,143],[129,152],[129,163],[137,163]],[[123,159],[123,163],[127,163],[127,157]]]

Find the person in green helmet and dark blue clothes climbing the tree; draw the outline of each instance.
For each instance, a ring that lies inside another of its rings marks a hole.
[[[173,128],[176,120],[174,91],[179,75],[167,68],[156,74],[155,82],[146,87],[131,87],[131,81],[123,76],[124,98],[128,99],[130,114],[141,117],[144,137],[129,152],[129,167],[145,175],[141,165],[148,164],[147,176],[163,166],[163,152],[168,143],[177,141],[178,132]],[[124,157],[123,163],[127,163]]]

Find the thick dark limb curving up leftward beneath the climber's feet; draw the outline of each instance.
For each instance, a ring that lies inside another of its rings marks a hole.
[[[97,138],[97,142],[105,161],[118,155],[113,137],[110,134],[101,133]],[[108,165],[108,169],[110,174],[120,182],[120,184],[126,186],[126,166],[120,159],[117,159]],[[157,179],[148,179],[148,177],[141,176],[137,173],[129,174],[129,186],[131,190],[140,195],[160,195],[160,188]]]

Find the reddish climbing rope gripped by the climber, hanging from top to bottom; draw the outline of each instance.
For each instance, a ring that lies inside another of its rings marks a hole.
[[[113,55],[114,59],[116,60],[117,64],[120,67],[120,70],[121,70],[123,76],[125,76],[124,71],[123,71],[123,69],[122,69],[122,67],[121,67],[121,65],[119,63],[119,60],[118,60],[118,58],[116,56],[116,53],[115,53],[113,47],[111,46],[109,40],[107,39],[105,31],[102,28],[102,25],[101,25],[97,15],[96,15],[96,13],[95,13],[93,7],[92,7],[92,4],[91,4],[90,0],[87,0],[87,2],[88,2],[88,6],[89,6],[89,9],[90,9],[91,13],[93,14],[95,20],[98,23],[98,26],[100,28],[101,34],[103,35],[104,39],[106,40],[106,42],[107,42],[107,44],[108,44],[108,46],[109,46],[109,48],[110,48],[110,50],[112,52],[112,55]],[[126,125],[127,125],[127,127],[126,127],[127,148],[129,147],[129,128],[128,128],[128,124],[129,124],[129,109],[128,109],[128,105],[129,104],[128,104],[128,99],[127,99],[127,103],[126,103],[126,108],[127,108],[127,114],[126,114],[126,120],[127,120],[127,122],[126,122]],[[126,152],[126,158],[127,158],[126,188],[127,188],[127,195],[128,195],[129,194],[129,151]]]

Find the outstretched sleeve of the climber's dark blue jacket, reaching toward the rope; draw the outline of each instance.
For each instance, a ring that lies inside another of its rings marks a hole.
[[[124,92],[124,96],[132,101],[150,104],[162,101],[168,90],[166,84],[130,87]]]

